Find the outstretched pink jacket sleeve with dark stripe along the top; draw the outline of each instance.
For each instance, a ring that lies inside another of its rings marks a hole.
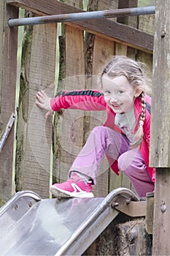
[[[51,108],[58,111],[64,109],[78,110],[106,110],[107,104],[104,101],[104,94],[101,91],[60,91],[56,97],[51,98]]]

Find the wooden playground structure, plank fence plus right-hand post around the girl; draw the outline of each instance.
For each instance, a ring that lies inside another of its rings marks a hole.
[[[137,2],[89,1],[88,11],[132,10]],[[150,166],[156,167],[156,173],[154,196],[148,196],[146,206],[147,222],[152,223],[152,255],[170,255],[170,2],[157,0],[155,15],[119,14],[117,18],[66,21],[60,26],[25,26],[18,63],[20,30],[12,23],[9,26],[7,20],[20,18],[20,8],[27,11],[27,17],[35,18],[85,12],[82,1],[0,2],[1,136],[11,128],[0,154],[1,203],[20,190],[32,190],[49,198],[50,184],[66,179],[68,167],[88,132],[104,121],[101,113],[87,116],[78,111],[72,119],[67,111],[45,120],[45,113],[35,105],[36,91],[45,89],[53,96],[61,89],[93,88],[102,67],[113,55],[130,56],[145,62],[152,78]],[[15,126],[11,118],[15,118]],[[125,176],[113,176],[104,162],[96,197],[106,196],[117,187],[133,189]]]

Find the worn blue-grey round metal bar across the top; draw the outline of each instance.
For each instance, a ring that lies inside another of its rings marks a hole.
[[[117,10],[104,10],[96,12],[78,12],[69,13],[61,15],[50,15],[50,16],[40,16],[32,18],[18,18],[7,20],[8,26],[27,26],[27,25],[37,25],[45,23],[59,23],[59,22],[71,22],[74,20],[90,20],[98,18],[116,18],[125,17],[133,15],[148,15],[155,13],[155,6],[151,7],[136,7],[136,8],[124,8]]]

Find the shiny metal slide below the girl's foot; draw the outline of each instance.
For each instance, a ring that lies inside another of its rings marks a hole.
[[[82,255],[119,214],[112,208],[118,195],[139,201],[125,188],[93,198],[16,193],[0,208],[1,255]]]

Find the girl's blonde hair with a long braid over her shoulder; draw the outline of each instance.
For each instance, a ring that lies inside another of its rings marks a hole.
[[[139,118],[139,128],[134,134],[134,141],[131,142],[131,148],[136,148],[142,143],[146,108],[144,94],[151,94],[150,80],[146,75],[144,75],[144,68],[146,69],[146,65],[142,62],[134,61],[133,59],[129,59],[127,56],[114,56],[112,61],[107,64],[101,74],[101,78],[104,74],[108,75],[110,78],[124,75],[125,78],[128,79],[128,82],[131,83],[131,86],[135,86],[142,91],[139,95],[142,102],[142,113]]]

